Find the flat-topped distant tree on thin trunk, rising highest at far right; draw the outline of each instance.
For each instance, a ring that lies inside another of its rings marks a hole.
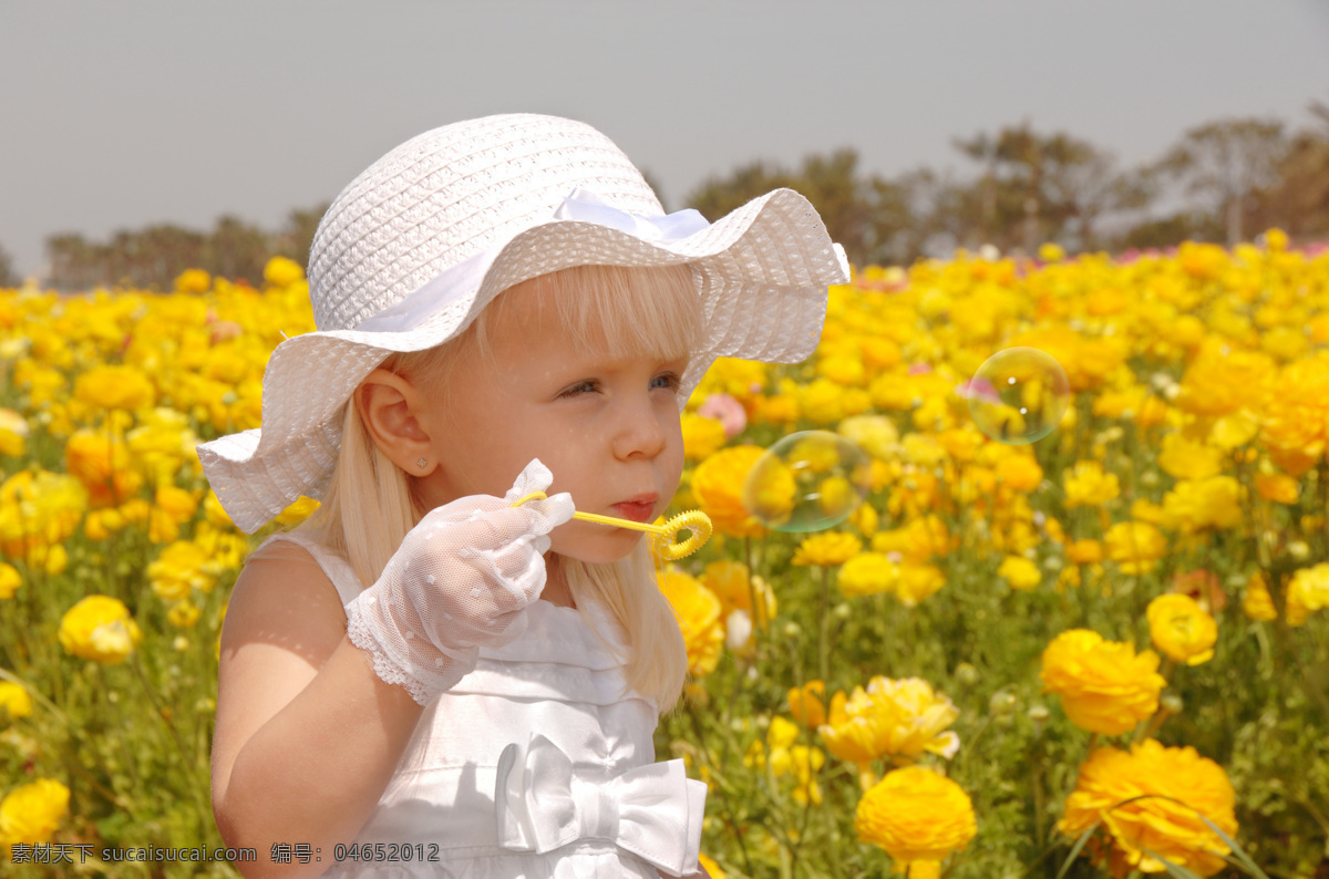
[[[1154,170],[1221,216],[1231,247],[1241,240],[1251,197],[1277,183],[1288,146],[1282,122],[1221,120],[1189,129]]]

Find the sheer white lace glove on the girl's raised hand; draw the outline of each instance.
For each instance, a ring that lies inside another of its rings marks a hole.
[[[383,576],[346,605],[347,636],[379,677],[428,705],[476,667],[481,645],[521,637],[545,588],[548,535],[574,510],[566,493],[512,505],[552,482],[536,458],[506,497],[459,498],[411,528]]]

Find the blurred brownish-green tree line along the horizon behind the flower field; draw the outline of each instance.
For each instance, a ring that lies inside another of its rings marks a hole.
[[[1122,167],[1111,153],[1030,123],[954,138],[965,173],[922,166],[896,177],[864,173],[859,154],[808,155],[796,169],[766,161],[715,177],[683,199],[715,220],[775,187],[817,207],[856,264],[908,264],[985,244],[1033,255],[1051,242],[1067,252],[1168,247],[1183,240],[1235,244],[1280,227],[1294,240],[1329,238],[1329,102],[1309,125],[1228,118],[1187,130],[1159,159]],[[658,189],[658,187],[657,187]],[[274,255],[308,262],[327,204],[295,210],[264,231],[234,216],[209,232],[171,224],[122,230],[106,242],[80,234],[47,239],[47,283],[57,289],[125,284],[170,289],[186,268],[258,285]],[[0,285],[19,279],[0,250]]]

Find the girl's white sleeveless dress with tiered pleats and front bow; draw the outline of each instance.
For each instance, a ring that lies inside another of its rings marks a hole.
[[[304,547],[343,605],[361,591],[347,562],[308,535],[275,534],[263,547],[271,540]],[[622,644],[603,608],[583,608],[605,640]],[[533,601],[528,613],[521,639],[482,648],[476,669],[425,708],[359,835],[318,855],[331,862],[324,876],[657,879],[657,866],[696,870],[706,785],[686,779],[682,761],[654,762],[654,700],[627,692],[582,612]],[[364,843],[372,860],[352,859]]]

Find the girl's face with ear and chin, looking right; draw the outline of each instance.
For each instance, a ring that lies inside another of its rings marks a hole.
[[[537,329],[536,300],[550,293],[528,281],[502,295],[522,299],[489,324],[496,366],[474,357],[457,365],[445,393],[421,386],[417,417],[440,462],[423,478],[425,502],[501,498],[540,458],[554,477],[548,494],[567,491],[579,511],[654,520],[683,473],[676,392],[687,355],[611,362],[578,353],[550,320]],[[645,505],[617,506],[634,501]],[[618,560],[645,536],[579,519],[550,534],[554,552],[587,563]]]

